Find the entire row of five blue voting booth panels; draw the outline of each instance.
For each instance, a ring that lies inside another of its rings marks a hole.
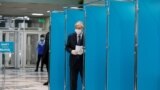
[[[154,2],[153,2],[154,1]],[[160,1],[110,1],[51,13],[50,90],[70,90],[67,37],[84,22],[78,90],[160,90]]]

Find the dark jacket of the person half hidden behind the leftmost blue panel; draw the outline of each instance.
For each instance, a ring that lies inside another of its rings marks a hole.
[[[44,54],[43,54],[43,63],[49,63],[49,32],[46,34],[45,38],[45,46],[44,46]]]

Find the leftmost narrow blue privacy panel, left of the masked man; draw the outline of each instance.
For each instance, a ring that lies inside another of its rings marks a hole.
[[[64,90],[65,20],[63,12],[51,15],[50,90]]]

